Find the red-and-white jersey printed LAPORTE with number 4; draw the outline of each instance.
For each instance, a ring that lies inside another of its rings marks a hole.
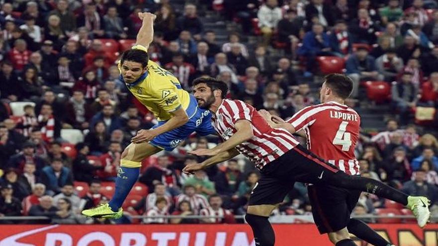
[[[304,130],[307,149],[347,174],[359,174],[354,148],[359,138],[360,116],[353,109],[328,102],[305,107],[287,122]]]

